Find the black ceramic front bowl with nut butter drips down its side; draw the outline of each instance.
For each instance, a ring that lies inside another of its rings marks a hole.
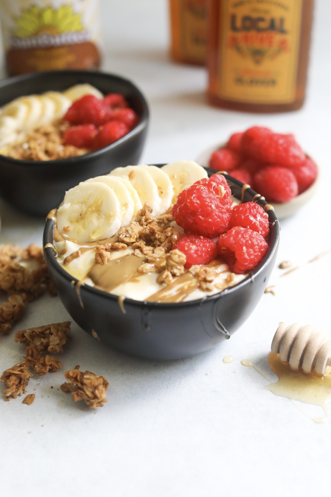
[[[213,169],[206,168],[208,174]],[[243,183],[224,174],[232,194],[241,199]],[[244,201],[256,192],[244,191]],[[257,202],[265,206],[265,201]],[[272,210],[269,248],[264,259],[243,281],[220,293],[181,303],[138,302],[118,297],[88,285],[77,289],[77,280],[57,262],[54,251],[44,249],[44,257],[59,297],[72,319],[87,333],[97,332],[100,340],[129,354],[149,359],[179,359],[198,354],[230,338],[258,304],[275,263],[279,244],[279,223]],[[54,222],[48,220],[44,247],[53,244]],[[125,310],[125,313],[123,312]],[[95,333],[94,333],[95,335]]]

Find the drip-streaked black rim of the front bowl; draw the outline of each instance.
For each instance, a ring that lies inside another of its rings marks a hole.
[[[164,166],[164,164],[153,164],[153,166],[161,167],[161,166]],[[244,186],[244,183],[242,183],[241,181],[239,181],[236,178],[233,178],[229,174],[224,173],[223,171],[215,171],[214,169],[210,169],[210,167],[204,167],[204,169],[206,169],[208,176],[211,176],[212,174],[215,174],[216,172],[222,173],[225,176],[225,179],[227,180],[228,183],[230,182],[230,184],[231,183],[236,184],[241,189]],[[244,193],[245,194],[249,193],[250,196],[252,195],[252,197],[254,195],[259,195],[252,188],[246,188],[244,190]],[[248,200],[248,201],[250,201],[250,200]],[[258,203],[259,205],[261,205],[262,207],[264,207],[265,205],[269,205],[269,204],[267,204],[267,202],[265,200],[263,200],[263,199],[261,200],[260,196],[254,201],[256,203]],[[139,307],[140,306],[147,306],[148,308],[153,308],[153,309],[156,309],[158,307],[161,307],[164,309],[171,309],[171,308],[181,309],[184,307],[202,305],[206,301],[217,300],[221,296],[231,294],[231,293],[235,292],[236,290],[238,290],[239,288],[242,288],[242,287],[248,285],[251,281],[254,281],[255,277],[257,275],[259,275],[259,273],[261,273],[263,271],[264,267],[269,263],[270,259],[272,259],[273,255],[274,255],[274,252],[277,250],[277,246],[278,246],[278,242],[279,242],[279,234],[280,234],[279,221],[278,221],[273,209],[269,209],[267,211],[267,214],[269,216],[270,231],[271,231],[271,229],[273,230],[273,240],[270,243],[270,245],[268,244],[268,250],[267,250],[264,258],[262,259],[262,261],[255,267],[255,269],[251,273],[249,273],[246,276],[246,278],[244,278],[239,283],[236,283],[235,285],[233,285],[231,287],[225,288],[224,290],[221,290],[220,292],[217,292],[213,295],[205,295],[201,299],[190,300],[187,302],[149,302],[146,300],[140,301],[140,300],[134,300],[134,299],[130,299],[130,298],[126,297],[124,303],[130,304],[133,306],[139,306]],[[269,233],[269,237],[270,237],[270,233]],[[72,286],[76,286],[76,284],[78,283],[79,280],[77,278],[74,278],[73,276],[71,276],[71,274],[69,274],[59,264],[52,247],[45,248],[46,244],[48,244],[48,243],[51,243],[51,244],[54,243],[54,221],[53,221],[53,219],[47,219],[47,221],[46,221],[46,225],[45,225],[45,229],[44,229],[44,236],[43,236],[44,251],[45,252],[47,251],[46,253],[47,253],[47,256],[49,257],[49,261],[53,265],[55,270],[58,271],[61,274],[61,276],[63,276]],[[72,281],[74,281],[74,285],[73,285]],[[90,285],[82,284],[80,286],[80,291],[82,289],[84,291],[86,290],[87,292],[91,292],[92,294],[99,295],[100,297],[108,298],[114,302],[115,301],[118,302],[118,299],[119,299],[118,295],[114,295],[112,293],[106,292],[104,290],[100,290],[100,289],[95,288],[95,287],[90,286]]]

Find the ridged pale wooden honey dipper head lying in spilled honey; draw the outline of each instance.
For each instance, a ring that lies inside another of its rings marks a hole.
[[[310,374],[315,369],[317,374],[324,375],[331,366],[331,340],[312,325],[279,323],[271,352],[279,354],[279,359],[288,362],[293,371],[302,368],[304,373]]]

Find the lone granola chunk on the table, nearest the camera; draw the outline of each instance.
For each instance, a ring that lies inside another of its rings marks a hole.
[[[71,393],[75,402],[84,400],[91,409],[103,407],[107,402],[106,390],[109,383],[103,376],[72,369],[65,372],[65,378],[69,383],[63,383],[60,388],[65,393]]]

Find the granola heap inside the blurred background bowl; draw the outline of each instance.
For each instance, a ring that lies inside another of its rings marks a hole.
[[[27,133],[23,143],[7,146],[0,153],[24,161],[53,161],[86,154],[88,150],[66,145],[63,133],[69,123],[56,120]]]

